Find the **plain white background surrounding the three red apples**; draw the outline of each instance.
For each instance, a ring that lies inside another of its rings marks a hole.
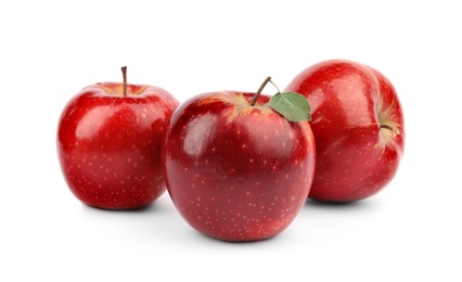
[[[2,1],[0,280],[461,281],[461,28],[444,0]],[[284,88],[335,57],[384,73],[406,114],[399,171],[369,200],[309,202],[280,235],[241,244],[194,231],[168,194],[105,211],[64,182],[61,111],[123,65],[184,101],[268,75]]]

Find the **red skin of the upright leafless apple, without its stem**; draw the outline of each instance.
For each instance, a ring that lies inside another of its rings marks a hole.
[[[100,82],[78,92],[57,127],[57,156],[70,191],[89,206],[133,209],[166,190],[162,140],[178,101],[147,85]]]

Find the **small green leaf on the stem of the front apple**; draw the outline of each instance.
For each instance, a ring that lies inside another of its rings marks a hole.
[[[311,120],[308,100],[295,92],[278,92],[270,100],[270,106],[288,121]]]

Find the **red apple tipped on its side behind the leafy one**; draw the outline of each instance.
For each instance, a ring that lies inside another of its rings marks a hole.
[[[309,197],[352,202],[376,194],[395,177],[405,146],[401,104],[375,68],[330,60],[300,72],[285,88],[307,98],[317,145]]]

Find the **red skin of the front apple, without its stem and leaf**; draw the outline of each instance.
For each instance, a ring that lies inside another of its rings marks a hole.
[[[260,95],[198,94],[174,113],[165,179],[185,221],[223,241],[272,238],[294,220],[311,187],[316,148],[308,121],[291,123]]]

